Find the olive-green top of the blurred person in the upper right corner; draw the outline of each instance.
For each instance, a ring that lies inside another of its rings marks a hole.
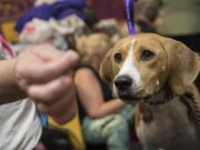
[[[158,32],[166,36],[200,33],[200,0],[161,0]]]

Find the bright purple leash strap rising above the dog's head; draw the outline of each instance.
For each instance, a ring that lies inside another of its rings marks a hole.
[[[136,34],[134,29],[134,0],[124,0],[126,2],[126,12],[127,12],[127,23],[129,29],[129,34]]]

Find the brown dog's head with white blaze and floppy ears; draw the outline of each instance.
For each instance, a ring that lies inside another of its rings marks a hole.
[[[199,56],[183,43],[144,33],[119,41],[103,58],[101,77],[121,99],[147,99],[164,86],[181,96],[200,71]]]

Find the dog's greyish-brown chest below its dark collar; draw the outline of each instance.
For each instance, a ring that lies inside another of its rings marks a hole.
[[[151,122],[142,119],[142,112],[139,113],[140,121],[137,134],[142,142],[150,148],[162,149],[193,149],[198,146],[198,134],[194,124],[188,116],[188,108],[178,99],[162,106],[151,106]],[[139,110],[140,111],[140,110]],[[199,141],[200,142],[200,141]]]

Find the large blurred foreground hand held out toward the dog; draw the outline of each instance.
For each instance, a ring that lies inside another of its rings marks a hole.
[[[58,51],[49,44],[30,47],[16,60],[16,80],[41,112],[66,123],[76,113],[72,74],[78,62],[73,51]]]

